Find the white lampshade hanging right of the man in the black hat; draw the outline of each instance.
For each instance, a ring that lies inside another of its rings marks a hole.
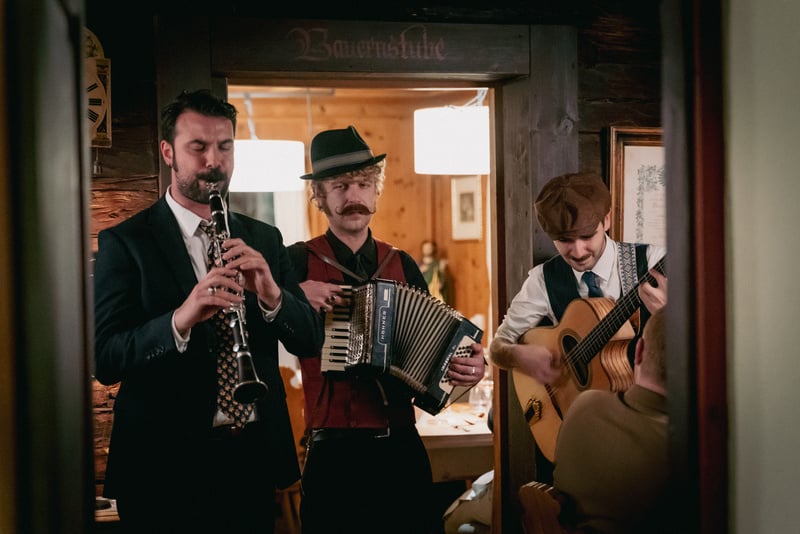
[[[488,174],[489,107],[447,106],[414,112],[417,174]]]

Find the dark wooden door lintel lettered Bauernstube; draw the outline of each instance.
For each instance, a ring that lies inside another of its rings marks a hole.
[[[480,80],[529,69],[519,54],[527,49],[527,26],[226,18],[211,32],[212,70],[227,75],[263,75],[287,63],[362,76],[485,73]]]

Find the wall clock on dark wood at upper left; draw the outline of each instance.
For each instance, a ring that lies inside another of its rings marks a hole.
[[[93,147],[111,146],[111,60],[97,36],[84,28],[86,120]]]

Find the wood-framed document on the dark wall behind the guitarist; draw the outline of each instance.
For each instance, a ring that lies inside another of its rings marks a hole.
[[[609,128],[611,237],[667,245],[666,176],[661,128]]]

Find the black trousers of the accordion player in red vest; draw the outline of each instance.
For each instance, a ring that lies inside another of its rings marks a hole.
[[[304,534],[419,533],[432,521],[432,474],[416,429],[347,432],[309,445],[300,505]]]

